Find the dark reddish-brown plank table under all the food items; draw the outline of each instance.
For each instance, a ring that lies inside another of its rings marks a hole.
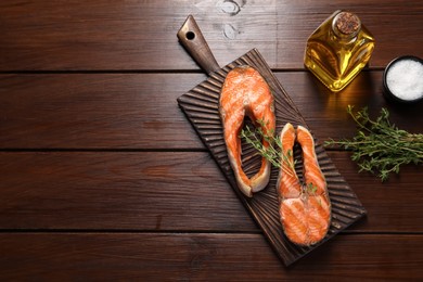
[[[331,94],[303,53],[337,9],[376,49]],[[176,37],[189,14],[221,66],[257,48],[319,142],[355,134],[348,104],[423,131],[421,105],[382,97],[390,60],[423,57],[422,1],[3,1],[1,280],[422,280],[422,168],[382,183],[335,150],[368,216],[283,266],[177,104],[206,78]]]

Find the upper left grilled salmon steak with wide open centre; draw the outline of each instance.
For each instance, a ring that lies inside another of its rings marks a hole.
[[[252,197],[254,192],[265,189],[269,183],[271,164],[261,158],[260,169],[251,179],[243,171],[240,131],[244,118],[248,116],[254,126],[261,127],[267,136],[273,136],[275,128],[273,95],[266,80],[255,68],[239,66],[228,73],[220,93],[219,113],[228,158],[238,188],[244,195]],[[265,148],[269,146],[266,140],[261,142]]]

